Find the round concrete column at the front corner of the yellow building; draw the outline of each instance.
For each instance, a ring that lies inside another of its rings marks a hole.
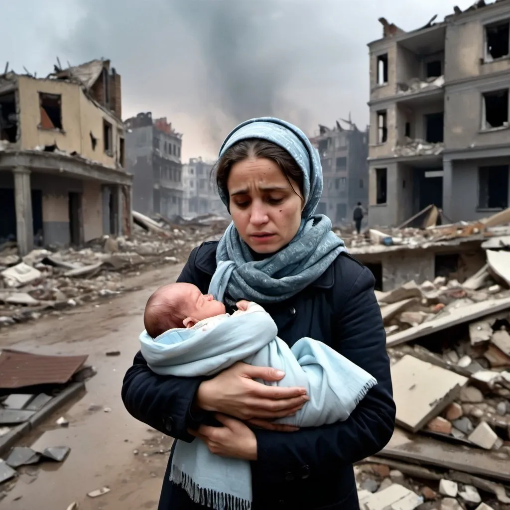
[[[34,248],[34,223],[32,218],[32,192],[30,170],[16,167],[14,174],[14,201],[16,206],[16,237],[21,256]]]

